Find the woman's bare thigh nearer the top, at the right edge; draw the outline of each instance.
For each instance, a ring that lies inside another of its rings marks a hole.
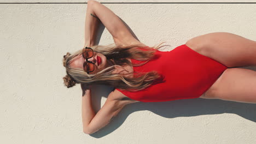
[[[256,41],[236,34],[208,33],[188,40],[186,45],[229,68],[256,65]]]

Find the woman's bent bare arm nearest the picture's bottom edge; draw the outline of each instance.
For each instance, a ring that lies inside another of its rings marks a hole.
[[[106,126],[127,104],[134,103],[130,100],[119,100],[118,93],[111,92],[105,104],[95,114],[92,109],[91,91],[85,84],[81,84],[82,97],[82,120],[85,134],[92,134]]]

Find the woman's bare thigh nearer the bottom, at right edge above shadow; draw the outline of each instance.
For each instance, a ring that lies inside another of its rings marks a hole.
[[[256,103],[256,71],[228,68],[201,98]]]

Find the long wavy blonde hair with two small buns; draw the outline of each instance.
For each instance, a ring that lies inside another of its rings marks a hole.
[[[110,44],[107,46],[90,46],[91,49],[93,49],[95,52],[102,53],[104,56],[106,56],[107,59],[112,59],[114,62],[113,66],[103,69],[97,74],[87,74],[83,69],[74,69],[69,67],[69,63],[74,59],[75,56],[82,55],[83,49],[74,52],[72,55],[71,53],[67,52],[67,54],[63,56],[62,60],[63,66],[66,68],[67,73],[67,75],[63,77],[65,86],[69,88],[74,86],[75,83],[86,83],[87,85],[109,85],[114,88],[119,88],[126,91],[139,91],[141,89],[147,88],[148,86],[152,85],[154,80],[162,78],[162,76],[159,75],[156,71],[138,73],[140,76],[132,78],[124,77],[124,74],[112,74],[112,72],[115,70],[115,67],[121,67],[125,64],[132,65],[134,67],[146,64],[148,61],[154,58],[154,53],[156,50],[162,47],[160,46],[161,44],[162,43],[153,47],[145,47],[141,44],[129,46],[115,44]],[[137,49],[138,47],[147,49],[147,51]],[[126,58],[132,58],[138,61],[146,62],[141,64],[133,64]]]

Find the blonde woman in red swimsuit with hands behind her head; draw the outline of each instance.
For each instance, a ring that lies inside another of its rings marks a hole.
[[[115,44],[95,45],[97,25],[112,34]],[[132,36],[111,10],[88,1],[85,48],[63,58],[65,85],[81,83],[84,133],[110,122],[127,104],[205,98],[256,103],[256,72],[235,68],[256,65],[256,41],[217,32],[200,35],[169,52],[148,47]],[[91,104],[91,85],[115,89],[101,110]]]

